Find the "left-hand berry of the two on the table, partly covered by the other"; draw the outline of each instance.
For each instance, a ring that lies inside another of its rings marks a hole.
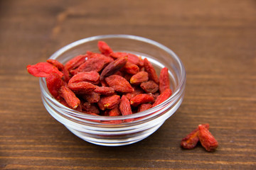
[[[209,124],[203,124],[203,126],[206,127],[207,129],[209,128]],[[196,147],[199,141],[198,132],[199,132],[199,129],[196,128],[191,133],[186,135],[186,137],[184,137],[181,140],[181,147],[183,147],[184,149],[193,149],[194,147]]]

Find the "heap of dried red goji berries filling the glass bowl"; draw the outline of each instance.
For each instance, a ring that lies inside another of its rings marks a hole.
[[[97,46],[99,53],[87,51],[65,65],[51,59],[28,65],[28,73],[46,77],[50,94],[63,105],[92,115],[130,115],[171,96],[166,67],[158,77],[146,58],[113,52],[104,41]]]

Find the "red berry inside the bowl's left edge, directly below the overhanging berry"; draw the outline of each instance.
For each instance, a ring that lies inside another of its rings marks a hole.
[[[63,79],[60,78],[58,74],[53,72],[48,77],[46,77],[46,84],[48,90],[50,91],[50,94],[52,94],[54,98],[58,98],[58,91],[60,90],[61,86],[65,85],[65,82],[63,81]]]

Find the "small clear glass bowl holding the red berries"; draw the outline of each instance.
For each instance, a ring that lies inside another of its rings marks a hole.
[[[181,105],[186,84],[186,72],[181,60],[168,47],[153,40],[134,35],[98,35],[66,45],[55,52],[50,59],[65,64],[76,55],[87,50],[99,52],[97,42],[103,40],[114,51],[130,52],[147,57],[159,74],[161,68],[169,69],[173,94],[166,101],[154,108],[132,115],[97,116],[74,111],[55,100],[47,89],[46,79],[40,78],[41,97],[50,115],[65,125],[73,134],[96,145],[129,145],[151,135]],[[112,124],[112,120],[133,119],[132,122]]]

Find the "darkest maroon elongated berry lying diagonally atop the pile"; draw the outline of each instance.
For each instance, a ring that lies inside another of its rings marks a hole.
[[[119,69],[124,67],[124,64],[126,63],[127,63],[127,57],[120,57],[117,60],[110,62],[110,64],[108,64],[107,67],[105,67],[105,69],[102,70],[102,73],[100,74],[100,80],[119,71]]]

